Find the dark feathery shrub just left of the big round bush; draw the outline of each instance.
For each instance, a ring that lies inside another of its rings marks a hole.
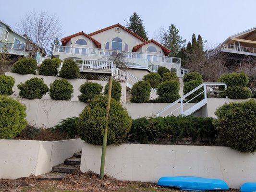
[[[67,119],[61,120],[61,122],[55,126],[55,130],[67,134],[70,138],[75,138],[78,135],[77,130],[77,120],[78,117],[69,117]]]

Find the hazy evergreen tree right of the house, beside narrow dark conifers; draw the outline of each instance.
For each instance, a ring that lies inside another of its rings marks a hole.
[[[179,29],[174,24],[171,24],[167,32],[164,34],[164,46],[171,50],[170,56],[175,57],[184,46],[186,40],[182,39],[182,36],[178,35]]]

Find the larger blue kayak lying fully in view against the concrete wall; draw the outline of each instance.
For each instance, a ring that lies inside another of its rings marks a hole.
[[[158,185],[187,191],[229,190],[229,186],[223,180],[189,176],[161,177]]]

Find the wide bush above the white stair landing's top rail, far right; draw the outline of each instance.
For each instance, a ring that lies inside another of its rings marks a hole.
[[[232,72],[222,75],[218,82],[226,83],[227,86],[241,86],[245,87],[249,84],[248,76],[244,72]]]

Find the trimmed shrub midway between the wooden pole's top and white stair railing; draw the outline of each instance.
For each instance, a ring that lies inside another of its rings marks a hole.
[[[172,103],[180,98],[180,83],[176,80],[165,81],[158,85],[158,102]]]

